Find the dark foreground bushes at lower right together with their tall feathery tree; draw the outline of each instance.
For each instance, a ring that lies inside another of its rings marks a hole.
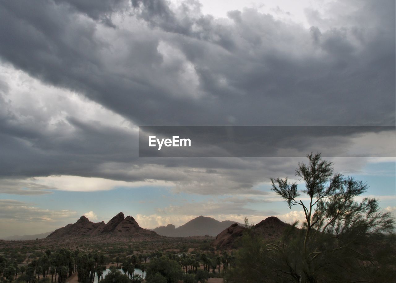
[[[367,185],[341,174],[320,154],[308,155],[295,174],[305,183],[271,179],[289,208],[301,207],[305,222],[268,243],[245,233],[229,282],[391,282],[395,274],[394,220],[375,199],[360,197]]]

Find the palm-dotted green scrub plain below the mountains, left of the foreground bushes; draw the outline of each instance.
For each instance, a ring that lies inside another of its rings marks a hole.
[[[223,276],[224,271],[220,274],[220,270],[228,270],[235,258],[227,252],[221,255],[201,249],[192,253],[180,253],[180,250],[174,249],[136,252],[133,250],[136,246],[131,244],[113,255],[112,250],[116,249],[118,243],[113,244],[115,247],[107,246],[106,243],[80,244],[76,249],[61,247],[56,250],[46,249],[45,245],[34,246],[29,250],[25,246],[21,247],[20,241],[7,243],[11,245],[3,246],[0,255],[0,282],[4,283],[64,283],[74,272],[78,272],[78,281],[82,283],[92,283],[95,278],[103,283],[141,283],[143,279],[147,282],[165,280],[167,283],[185,279],[186,283],[203,283],[209,276]],[[18,252],[15,253],[15,250]],[[103,270],[110,262],[114,265],[104,276]],[[141,271],[140,274],[135,273],[137,269]]]

